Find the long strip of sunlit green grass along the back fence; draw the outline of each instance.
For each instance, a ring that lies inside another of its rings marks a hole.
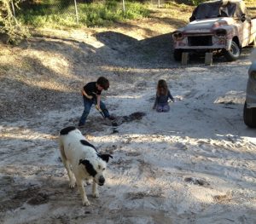
[[[20,7],[18,20],[35,27],[57,28],[61,26],[108,26],[115,21],[137,20],[147,17],[147,4],[127,2],[125,12],[120,2],[110,0],[99,3],[78,3],[79,25],[73,3],[39,3],[31,7]]]

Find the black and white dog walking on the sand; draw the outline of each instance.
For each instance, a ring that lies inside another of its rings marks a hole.
[[[104,171],[106,170],[108,159],[113,157],[109,154],[98,153],[96,147],[86,141],[84,135],[75,127],[61,129],[59,143],[62,163],[67,169],[70,181],[69,187],[73,188],[77,183],[83,205],[90,205],[84,191],[84,179],[93,179],[92,195],[98,198],[97,185],[102,186],[104,184]]]

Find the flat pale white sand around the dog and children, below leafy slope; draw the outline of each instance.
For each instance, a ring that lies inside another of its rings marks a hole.
[[[79,95],[71,108],[1,121],[0,222],[256,223],[255,130],[242,119],[249,65],[246,55],[213,66],[131,68],[130,83],[109,74],[114,84],[103,95],[110,111],[146,116],[112,134],[113,127],[90,112],[87,123],[95,126],[83,133],[113,159],[100,198],[85,187],[89,207],[77,188],[68,188],[57,151],[58,131],[77,125],[83,111]],[[160,78],[176,98],[167,113],[152,110]],[[29,204],[39,192],[45,202]]]

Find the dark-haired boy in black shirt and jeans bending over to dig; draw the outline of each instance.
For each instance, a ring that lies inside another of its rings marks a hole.
[[[90,82],[84,85],[81,89],[81,94],[84,100],[84,112],[79,120],[79,127],[84,126],[85,120],[90,112],[92,104],[96,105],[96,109],[103,113],[105,118],[113,120],[113,116],[110,116],[105,104],[101,101],[102,89],[108,90],[109,82],[107,78],[100,77],[96,82]]]

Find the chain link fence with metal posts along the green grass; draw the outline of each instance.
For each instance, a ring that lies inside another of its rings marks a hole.
[[[170,0],[10,1],[15,17],[22,24],[40,26],[46,25],[47,23],[47,25],[50,25],[52,23],[63,26],[101,26],[104,21],[116,21],[119,18],[138,19],[147,16],[149,14],[146,12],[147,7],[143,7],[142,3],[150,3],[160,8],[160,4],[163,5]],[[20,1],[20,3],[14,4],[12,1]]]

